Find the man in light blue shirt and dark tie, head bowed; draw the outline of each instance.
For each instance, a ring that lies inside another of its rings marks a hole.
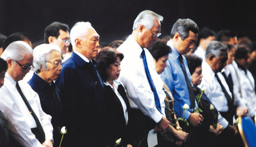
[[[176,21],[172,27],[171,39],[167,42],[172,52],[169,54],[166,70],[161,75],[174,96],[174,110],[177,117],[184,117],[194,127],[201,124],[203,116],[194,113],[197,103],[193,93],[187,60],[183,55],[193,49],[198,32],[197,24],[193,20],[178,19]],[[187,110],[183,109],[185,103],[189,105]],[[186,131],[189,132],[188,129]]]

